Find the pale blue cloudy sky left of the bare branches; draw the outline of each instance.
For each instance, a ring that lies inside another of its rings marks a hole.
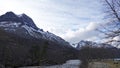
[[[35,24],[70,43],[98,40],[103,18],[100,0],[0,0],[0,15],[25,13]]]

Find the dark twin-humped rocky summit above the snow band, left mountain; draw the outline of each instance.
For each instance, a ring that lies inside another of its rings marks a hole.
[[[27,25],[29,27],[32,27],[34,29],[38,29],[37,26],[34,24],[33,20],[27,16],[26,14],[16,15],[14,12],[10,11],[0,16],[0,22],[5,21],[12,21],[13,23],[21,23],[24,25]]]

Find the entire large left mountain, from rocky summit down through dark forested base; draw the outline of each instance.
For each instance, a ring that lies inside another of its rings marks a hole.
[[[0,16],[0,64],[51,65],[75,59],[77,50],[62,38],[39,29],[25,14]]]

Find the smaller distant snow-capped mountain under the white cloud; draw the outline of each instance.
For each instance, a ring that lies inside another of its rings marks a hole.
[[[103,47],[103,48],[113,48],[112,45],[110,44],[105,44],[105,43],[96,43],[96,42],[92,42],[92,41],[84,41],[81,40],[78,44],[77,44],[77,49],[81,49],[81,47]]]

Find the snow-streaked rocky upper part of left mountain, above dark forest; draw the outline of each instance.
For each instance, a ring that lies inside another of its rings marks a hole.
[[[59,36],[39,29],[26,14],[16,15],[13,12],[5,13],[0,16],[0,28],[24,38],[46,39],[62,45],[69,45],[68,42]]]

